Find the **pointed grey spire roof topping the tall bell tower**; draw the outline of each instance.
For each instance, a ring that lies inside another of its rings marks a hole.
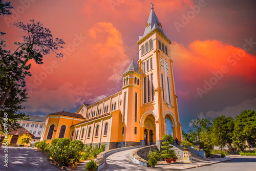
[[[145,28],[143,37],[145,35],[147,35],[148,33],[150,33],[154,29],[158,29],[164,35],[163,30],[162,30],[162,25],[160,24],[160,22],[157,18],[157,15],[154,11],[154,5],[151,2],[151,12],[150,12],[150,16],[147,19],[147,24],[146,24],[146,28]]]

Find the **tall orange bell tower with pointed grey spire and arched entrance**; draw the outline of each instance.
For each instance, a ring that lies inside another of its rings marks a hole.
[[[139,45],[138,68],[141,73],[140,127],[143,128],[144,144],[150,145],[148,141],[153,141],[160,146],[167,130],[173,132],[174,139],[177,137],[181,141],[182,131],[175,92],[173,60],[170,56],[172,42],[163,32],[153,3],[144,34],[139,37],[137,44]],[[166,119],[170,120],[172,127],[166,127]]]

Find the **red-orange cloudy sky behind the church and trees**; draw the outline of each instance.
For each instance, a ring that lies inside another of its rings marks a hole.
[[[152,0],[151,0],[152,1]],[[65,56],[31,62],[24,113],[47,116],[76,112],[122,87],[122,73],[138,60],[151,1],[10,1],[0,17],[6,48],[14,51],[23,32],[13,22],[34,19],[66,44]],[[6,2],[6,1],[5,1]],[[236,117],[256,110],[256,2],[153,1],[170,45],[182,130],[195,118]]]

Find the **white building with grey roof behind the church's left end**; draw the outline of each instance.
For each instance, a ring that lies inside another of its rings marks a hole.
[[[29,120],[19,120],[19,125],[28,130],[35,137],[31,141],[31,145],[40,140],[42,131],[44,131],[46,117],[29,115]]]

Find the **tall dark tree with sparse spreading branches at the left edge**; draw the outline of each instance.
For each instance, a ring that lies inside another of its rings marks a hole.
[[[14,42],[17,49],[5,50],[5,45],[0,45],[0,124],[4,123],[4,113],[8,112],[8,129],[16,127],[17,119],[24,119],[25,115],[19,113],[23,109],[22,102],[27,100],[26,76],[31,76],[28,70],[31,65],[29,60],[42,64],[42,57],[46,54],[56,53],[56,57],[63,56],[58,53],[58,48],[63,48],[65,42],[59,38],[53,38],[51,31],[44,28],[39,22],[30,20],[30,24],[15,22],[14,26],[25,32],[23,42]],[[3,126],[2,126],[3,129]]]

